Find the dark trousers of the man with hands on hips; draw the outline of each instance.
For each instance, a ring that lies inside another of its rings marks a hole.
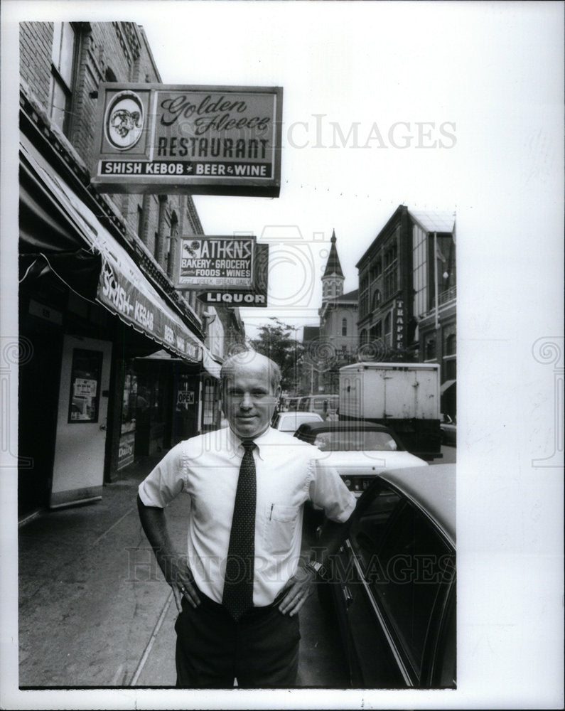
[[[179,688],[293,688],[298,670],[298,615],[278,601],[235,622],[222,605],[200,595],[193,609],[183,599],[175,630]]]

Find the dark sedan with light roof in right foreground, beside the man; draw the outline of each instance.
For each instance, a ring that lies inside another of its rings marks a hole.
[[[455,465],[379,474],[318,596],[354,688],[456,687]]]

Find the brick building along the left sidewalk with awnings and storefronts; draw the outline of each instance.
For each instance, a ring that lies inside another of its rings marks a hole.
[[[25,514],[99,498],[137,456],[217,424],[215,361],[243,334],[222,312],[205,343],[212,309],[173,287],[176,237],[203,233],[190,196],[90,184],[99,83],[161,81],[143,29],[21,23],[20,76]]]

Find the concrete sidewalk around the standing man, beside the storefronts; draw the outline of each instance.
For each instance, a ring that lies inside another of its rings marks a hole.
[[[21,687],[175,685],[176,606],[136,508],[137,486],[161,456],[104,486],[102,501],[43,513],[20,528]],[[180,496],[167,508],[178,550],[187,507]],[[337,631],[323,629],[315,598],[301,613],[299,679],[335,688],[343,678]]]

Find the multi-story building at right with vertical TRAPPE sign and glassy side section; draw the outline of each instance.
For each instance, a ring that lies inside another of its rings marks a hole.
[[[455,246],[452,213],[399,205],[357,263],[364,359],[440,363],[445,411],[453,414]]]

